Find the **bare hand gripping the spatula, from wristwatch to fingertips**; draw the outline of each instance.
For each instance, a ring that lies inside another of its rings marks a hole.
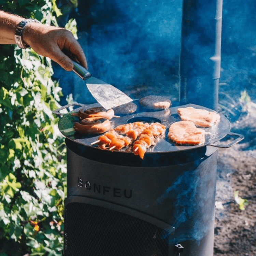
[[[36,53],[51,58],[67,71],[71,71],[74,65],[63,51],[88,69],[84,51],[70,30],[30,22],[24,29],[23,41]]]

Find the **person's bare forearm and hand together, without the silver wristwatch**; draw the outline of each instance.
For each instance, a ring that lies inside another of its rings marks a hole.
[[[14,35],[23,20],[23,17],[0,11],[0,44],[16,44]],[[68,71],[71,71],[74,65],[63,51],[74,55],[82,66],[88,68],[81,45],[67,29],[29,22],[23,27],[21,37],[24,44],[21,48],[28,45],[36,53],[51,58]]]

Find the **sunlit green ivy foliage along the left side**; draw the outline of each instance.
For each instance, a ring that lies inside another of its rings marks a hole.
[[[0,8],[55,26],[61,14],[55,0],[0,0]],[[75,21],[68,26],[75,33]],[[0,255],[62,255],[66,147],[52,114],[61,88],[50,59],[0,47]]]

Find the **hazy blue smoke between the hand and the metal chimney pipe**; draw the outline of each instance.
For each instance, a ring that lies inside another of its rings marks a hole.
[[[107,0],[90,6],[87,57],[94,76],[121,90],[169,86],[178,73],[181,4]]]

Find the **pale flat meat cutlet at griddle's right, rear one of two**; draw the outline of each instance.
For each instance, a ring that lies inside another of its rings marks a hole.
[[[182,120],[192,121],[199,127],[212,127],[214,124],[218,124],[221,119],[221,116],[215,112],[193,107],[179,108],[177,112]]]

